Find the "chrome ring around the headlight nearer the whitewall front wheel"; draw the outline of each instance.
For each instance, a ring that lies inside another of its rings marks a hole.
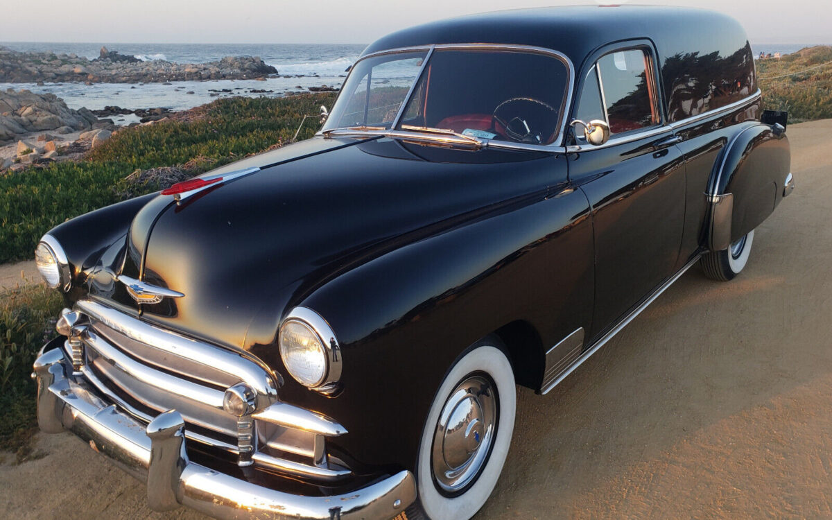
[[[314,384],[305,383],[299,379],[293,372],[290,363],[287,362],[285,354],[289,347],[284,344],[284,329],[288,324],[300,324],[314,334],[315,339],[318,340],[320,350],[324,356],[324,371],[321,377],[314,382]],[[329,323],[321,317],[320,314],[314,310],[306,307],[295,307],[280,324],[278,331],[278,348],[280,349],[280,358],[283,359],[283,364],[289,372],[292,379],[295,379],[306,388],[321,392],[323,394],[331,394],[338,388],[339,380],[341,379],[342,358],[341,349],[338,339],[335,338],[335,333],[329,326]]]

